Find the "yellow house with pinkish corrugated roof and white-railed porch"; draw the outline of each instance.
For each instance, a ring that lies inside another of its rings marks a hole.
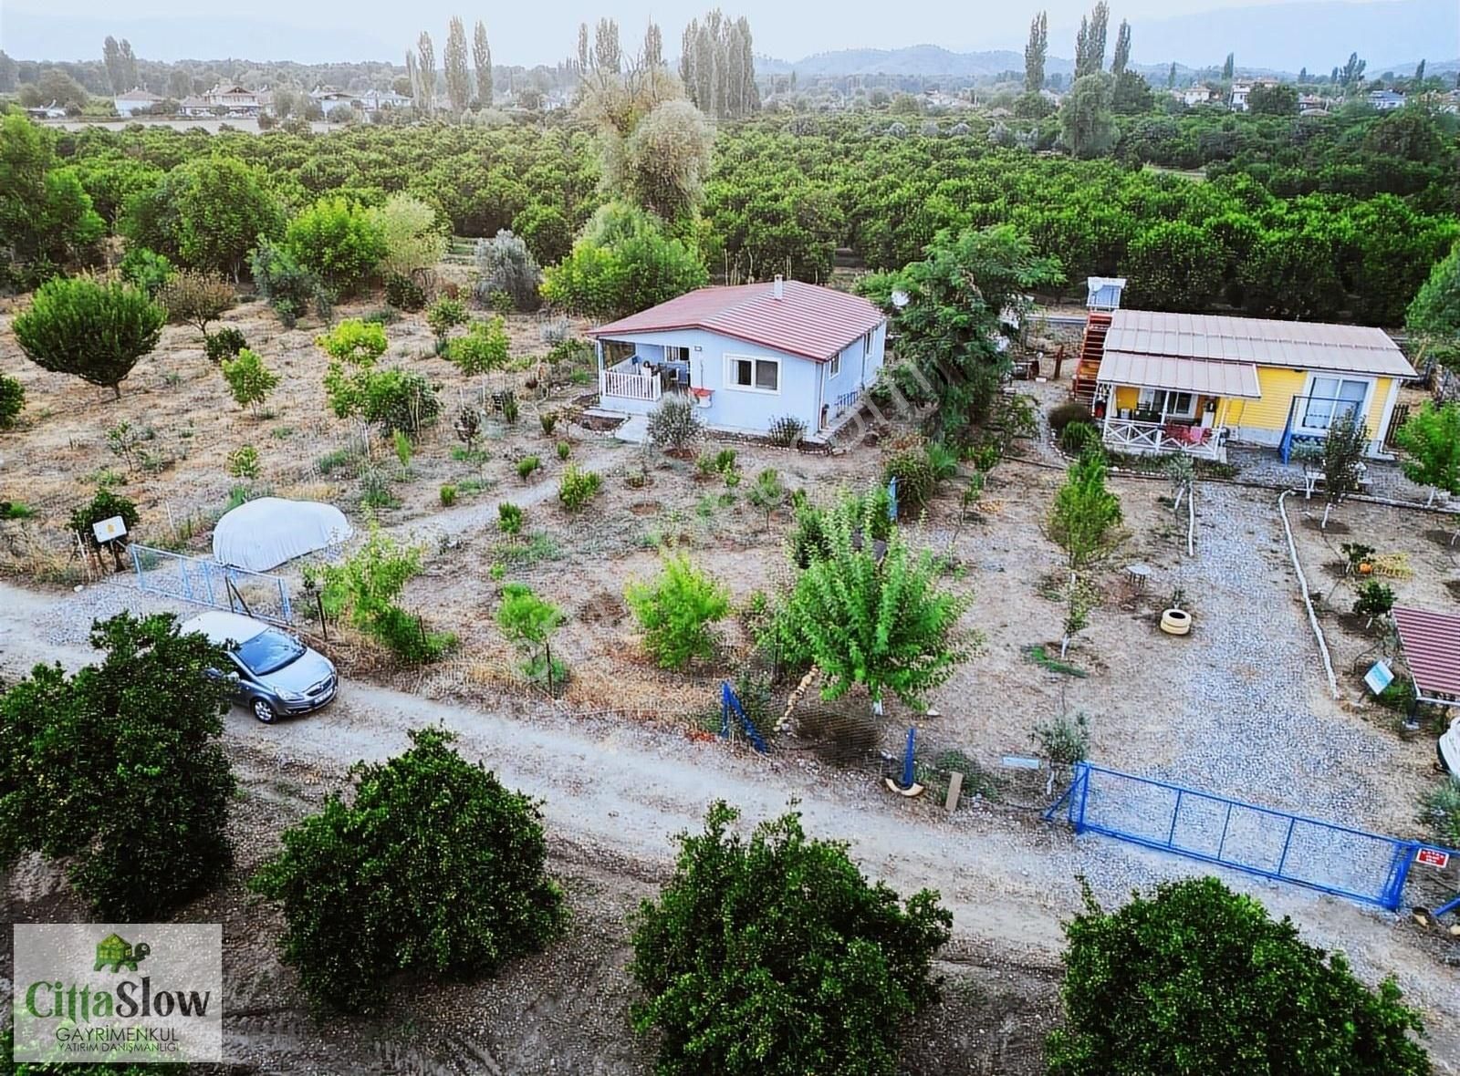
[[[1225,459],[1228,442],[1317,443],[1358,416],[1383,455],[1415,367],[1383,330],[1203,313],[1091,313],[1075,394],[1117,452]]]

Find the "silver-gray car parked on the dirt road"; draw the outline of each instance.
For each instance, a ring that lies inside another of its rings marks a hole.
[[[266,725],[334,698],[334,665],[282,628],[237,612],[204,612],[182,624],[182,631],[197,631],[228,652],[232,668],[216,674],[228,678],[234,701]]]

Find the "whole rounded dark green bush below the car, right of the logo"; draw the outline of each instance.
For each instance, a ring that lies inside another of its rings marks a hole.
[[[317,1012],[375,1012],[397,972],[491,974],[566,923],[539,803],[451,733],[409,735],[403,755],[356,764],[349,803],[334,793],[286,830],[250,884],[282,905],[283,961]]]

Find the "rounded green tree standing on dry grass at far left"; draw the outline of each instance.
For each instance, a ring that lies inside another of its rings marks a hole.
[[[121,382],[158,346],[166,319],[166,311],[136,287],[58,277],[41,284],[12,330],[41,369],[110,388],[120,399]]]

